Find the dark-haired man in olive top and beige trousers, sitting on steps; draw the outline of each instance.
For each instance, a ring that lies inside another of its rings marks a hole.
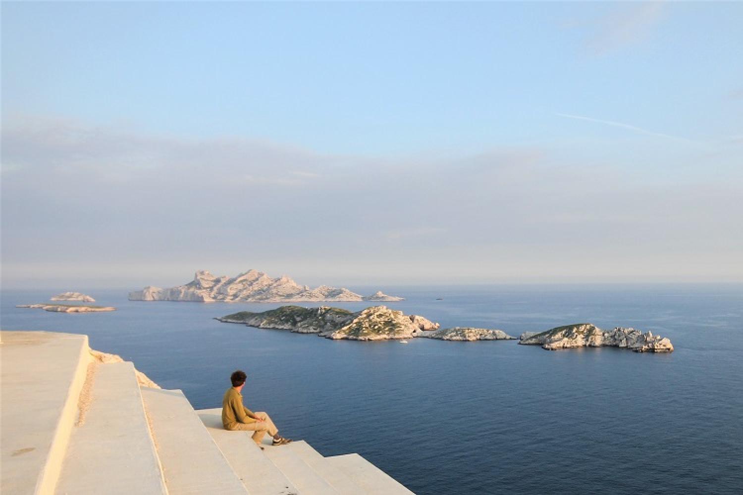
[[[273,436],[273,445],[286,445],[291,442],[279,435],[279,430],[273,424],[273,421],[266,413],[253,413],[250,409],[242,404],[242,394],[240,391],[245,384],[247,375],[237,370],[230,376],[233,386],[224,393],[222,399],[222,424],[226,430],[255,431],[253,433],[253,442],[261,447],[263,436],[268,432]]]

